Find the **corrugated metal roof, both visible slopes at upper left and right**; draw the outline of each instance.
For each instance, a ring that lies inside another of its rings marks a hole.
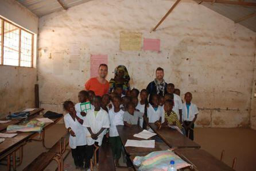
[[[57,0],[17,0],[17,1],[20,2],[22,5],[24,5],[25,7],[27,7],[30,11],[32,11],[38,17],[63,10],[63,7],[61,7],[60,3]],[[92,1],[92,0],[60,0],[60,1],[63,3],[65,7],[69,8],[69,7],[79,5],[81,3]],[[242,1],[243,0],[240,0],[240,2]],[[196,1],[196,2],[200,2],[200,1]],[[256,3],[256,0],[246,0],[245,2]],[[204,5],[209,9],[214,10],[217,13],[222,14],[227,18],[230,18],[233,21],[236,21],[239,18],[245,17],[246,15],[256,13],[256,7],[251,7],[251,6],[227,5],[224,3],[211,3],[211,2],[202,2],[201,5]],[[254,17],[251,17],[239,22],[239,24],[256,32],[256,15],[254,15]]]

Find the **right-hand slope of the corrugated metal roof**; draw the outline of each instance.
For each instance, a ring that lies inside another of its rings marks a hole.
[[[196,1],[200,2],[200,1]],[[242,2],[242,1],[241,1]],[[254,2],[255,0],[245,1],[245,2]],[[230,18],[233,21],[238,20],[239,18],[245,17],[247,15],[256,13],[256,7],[252,6],[242,6],[242,5],[227,5],[224,3],[211,3],[211,2],[202,2],[201,5],[208,7],[211,10],[216,11],[219,14],[224,15],[227,18]],[[249,28],[256,32],[256,15],[254,17],[247,18],[239,22],[239,24]]]

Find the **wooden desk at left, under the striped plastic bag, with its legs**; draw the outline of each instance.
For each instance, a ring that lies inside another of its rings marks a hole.
[[[37,116],[36,118],[43,118],[42,115]],[[44,134],[44,131],[49,126],[54,125],[56,122],[60,121],[60,118],[52,119],[53,123],[45,123],[45,126],[42,129],[42,133]],[[6,131],[5,131],[6,132]],[[16,135],[13,138],[5,138],[5,141],[0,143],[0,160],[4,157],[7,157],[7,170],[10,170],[10,156],[13,154],[13,166],[15,170],[15,151],[20,149],[20,147],[23,147],[26,143],[26,141],[33,137],[33,135],[36,135],[38,132],[17,132],[18,135]],[[42,137],[41,141],[44,145],[44,137]],[[23,153],[22,153],[23,155]],[[20,160],[22,161],[22,157],[20,157]]]

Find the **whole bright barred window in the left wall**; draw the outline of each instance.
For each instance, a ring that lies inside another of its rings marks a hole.
[[[0,64],[32,67],[33,34],[0,18]]]

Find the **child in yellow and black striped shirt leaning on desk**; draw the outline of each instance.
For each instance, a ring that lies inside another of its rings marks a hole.
[[[162,123],[164,127],[169,127],[169,126],[176,126],[179,127],[183,135],[185,135],[185,130],[183,126],[181,125],[177,114],[172,110],[173,108],[173,101],[172,100],[165,100],[164,103],[164,110],[165,110],[165,122]]]

